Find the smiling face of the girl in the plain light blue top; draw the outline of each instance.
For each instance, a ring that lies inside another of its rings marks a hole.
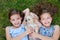
[[[14,27],[19,27],[21,24],[22,18],[19,14],[14,14],[10,17],[10,22],[13,24]]]

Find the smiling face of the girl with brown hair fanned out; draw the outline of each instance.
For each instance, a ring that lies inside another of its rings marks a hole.
[[[49,13],[43,13],[40,16],[41,20],[40,22],[45,26],[45,27],[50,27],[50,24],[52,22],[52,17]]]

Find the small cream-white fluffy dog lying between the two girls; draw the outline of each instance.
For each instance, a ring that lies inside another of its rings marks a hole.
[[[29,8],[25,9],[23,13],[25,13],[24,21],[26,21],[27,23],[26,26],[32,27],[34,31],[38,33],[38,28],[40,26],[40,23],[38,21],[39,19],[38,16],[35,13],[30,12]],[[35,39],[30,37],[30,40],[35,40]]]

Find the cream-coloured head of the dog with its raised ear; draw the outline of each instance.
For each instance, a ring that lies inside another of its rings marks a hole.
[[[23,13],[25,13],[24,19],[27,23],[34,23],[35,20],[38,20],[38,16],[35,13],[30,12],[29,8],[25,9]]]

